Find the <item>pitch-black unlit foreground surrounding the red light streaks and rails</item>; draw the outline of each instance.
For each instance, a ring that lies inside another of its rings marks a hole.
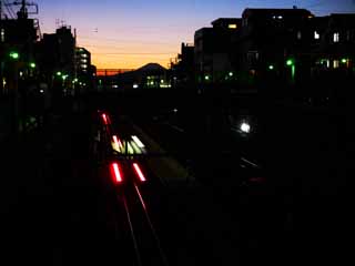
[[[124,195],[142,265],[163,265],[145,239],[152,236],[140,222],[134,187],[115,190],[92,154],[97,104],[70,106],[52,111],[43,127],[19,142],[1,144],[1,264],[139,265]],[[191,117],[189,108],[178,106],[183,114],[175,117],[165,115],[175,108],[168,105],[139,115],[109,101],[105,108],[115,117],[125,114],[194,177],[183,184],[168,177],[163,186],[148,170],[152,185],[140,188],[169,265],[351,259],[351,112],[257,112],[261,133],[243,142],[219,130],[213,121],[221,114]],[[212,130],[193,127],[205,121]],[[243,171],[242,157],[260,168]]]

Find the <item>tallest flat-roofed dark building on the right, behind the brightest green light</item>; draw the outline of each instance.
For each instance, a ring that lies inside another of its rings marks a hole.
[[[239,40],[242,73],[294,80],[296,72],[310,72],[307,27],[313,18],[305,9],[245,9]]]

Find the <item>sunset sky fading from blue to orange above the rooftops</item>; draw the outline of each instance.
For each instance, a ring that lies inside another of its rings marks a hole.
[[[78,44],[102,68],[139,68],[149,62],[168,66],[181,42],[193,42],[195,30],[216,18],[241,17],[245,8],[307,8],[317,16],[355,12],[355,0],[36,0],[42,33],[58,21],[77,29]],[[63,22],[61,22],[63,21]]]

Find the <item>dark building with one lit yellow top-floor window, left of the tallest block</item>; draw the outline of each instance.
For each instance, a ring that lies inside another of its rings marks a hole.
[[[202,28],[194,35],[194,61],[197,82],[224,82],[235,71],[235,41],[242,20],[221,18],[213,28]]]

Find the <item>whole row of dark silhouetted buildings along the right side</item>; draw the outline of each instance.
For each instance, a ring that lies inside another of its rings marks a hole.
[[[216,19],[212,28],[194,34],[195,81],[234,84],[240,90],[270,85],[275,93],[283,88],[316,85],[320,76],[351,81],[354,21],[354,13],[315,17],[295,7],[245,9],[242,18]],[[179,83],[184,78],[178,65],[179,61],[172,75]]]

